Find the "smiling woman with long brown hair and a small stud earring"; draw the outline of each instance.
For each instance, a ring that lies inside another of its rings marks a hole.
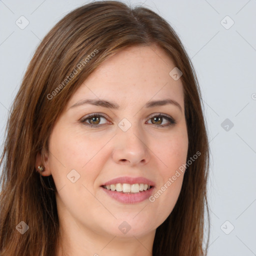
[[[208,150],[196,75],[169,24],[118,1],[71,11],[10,110],[0,255],[206,255]]]

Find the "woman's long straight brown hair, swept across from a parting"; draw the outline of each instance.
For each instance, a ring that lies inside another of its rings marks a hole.
[[[69,12],[43,38],[12,103],[0,159],[1,256],[55,256],[59,234],[55,186],[51,175],[35,170],[35,156],[47,152],[51,129],[66,102],[103,60],[126,47],[152,44],[161,47],[182,72],[187,160],[201,153],[187,166],[178,200],[156,229],[152,255],[206,255],[209,147],[192,63],[172,27],[152,10],[95,1]],[[15,228],[20,221],[29,227],[23,234]]]

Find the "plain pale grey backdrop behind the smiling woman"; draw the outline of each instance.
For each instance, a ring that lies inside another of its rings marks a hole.
[[[36,46],[86,2],[0,0],[1,143],[8,108]],[[208,255],[256,255],[256,0],[126,2],[151,8],[174,27],[198,75],[211,150]],[[15,24],[21,15],[29,21],[24,29]],[[228,29],[226,15],[234,21]],[[228,130],[221,126],[226,118],[233,123]]]

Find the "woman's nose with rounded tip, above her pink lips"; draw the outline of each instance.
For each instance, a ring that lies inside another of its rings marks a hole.
[[[146,138],[136,124],[126,131],[118,127],[114,139],[112,158],[116,163],[135,166],[149,161]]]

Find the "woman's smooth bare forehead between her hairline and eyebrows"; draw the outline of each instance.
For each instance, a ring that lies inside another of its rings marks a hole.
[[[126,48],[104,60],[91,73],[68,102],[82,98],[107,98],[118,104],[172,97],[183,104],[180,79],[169,72],[175,67],[172,59],[158,46]]]

